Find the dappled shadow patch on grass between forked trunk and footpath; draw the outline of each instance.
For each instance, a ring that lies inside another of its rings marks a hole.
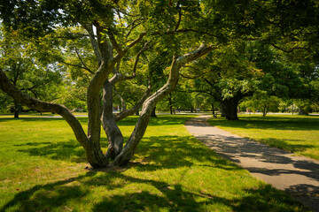
[[[192,165],[219,167],[225,170],[241,169],[217,156],[214,151],[191,136],[145,137],[138,145],[136,155],[142,158],[139,169],[157,170],[190,167]],[[147,163],[147,165],[143,165]]]

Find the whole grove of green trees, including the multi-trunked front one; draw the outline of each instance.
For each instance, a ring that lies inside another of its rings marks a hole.
[[[231,120],[257,91],[318,100],[315,0],[8,0],[0,12],[0,96],[64,117],[93,168],[126,165],[164,98],[173,110],[206,94]],[[124,142],[116,122],[141,107]]]

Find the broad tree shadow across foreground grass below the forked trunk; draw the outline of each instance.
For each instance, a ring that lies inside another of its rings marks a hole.
[[[146,185],[153,189],[139,189],[137,186],[136,190],[129,189],[132,185]],[[128,190],[125,190],[126,186]],[[124,190],[116,192],[117,189]],[[0,211],[10,208],[16,208],[17,211],[77,210],[83,206],[92,211],[305,210],[300,203],[292,201],[288,194],[271,186],[244,188],[243,191],[243,196],[222,197],[193,191],[180,183],[169,185],[163,181],[127,176],[121,170],[90,170],[77,178],[38,185],[19,192]],[[93,198],[94,195],[100,198]],[[79,202],[75,206],[79,208],[73,208],[69,202]]]

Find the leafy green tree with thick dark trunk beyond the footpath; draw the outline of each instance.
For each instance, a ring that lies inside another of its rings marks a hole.
[[[211,95],[214,100],[210,102],[218,102],[229,120],[238,119],[238,103],[245,96],[253,95],[257,78],[261,76],[261,70],[250,61],[249,45],[247,42],[232,43],[186,67],[187,72],[198,75],[189,83],[190,90]]]

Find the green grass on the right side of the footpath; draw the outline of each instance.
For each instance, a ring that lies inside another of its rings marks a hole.
[[[211,125],[296,155],[319,160],[319,116],[240,115],[239,121],[210,119]]]

